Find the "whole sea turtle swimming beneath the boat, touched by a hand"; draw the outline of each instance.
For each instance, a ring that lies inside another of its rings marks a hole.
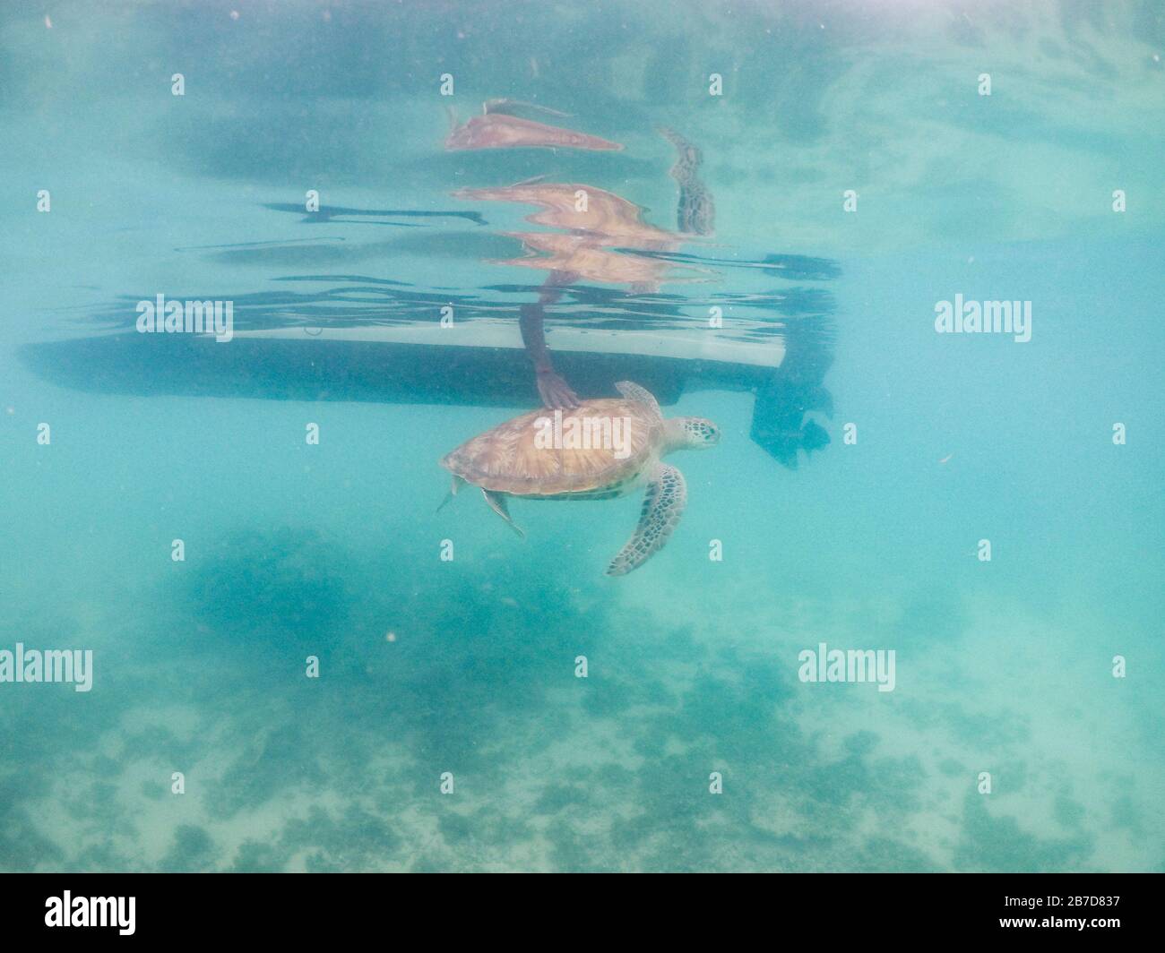
[[[661,458],[714,446],[720,430],[700,417],[664,419],[656,398],[638,384],[620,381],[615,389],[621,398],[534,410],[461,444],[440,461],[453,474],[450,496],[461,483],[481,487],[494,513],[524,536],[510,518],[510,496],[609,500],[647,485],[638,525],[607,576],[641,566],[663,549],[687,501],[684,474]]]

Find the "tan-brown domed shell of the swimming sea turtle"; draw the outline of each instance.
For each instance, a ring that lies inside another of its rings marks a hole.
[[[499,424],[440,465],[474,486],[515,496],[589,493],[635,481],[658,459],[663,436],[663,421],[638,401],[582,401],[573,410],[534,410]]]

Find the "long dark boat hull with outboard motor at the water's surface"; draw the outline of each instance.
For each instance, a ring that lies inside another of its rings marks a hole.
[[[334,246],[323,247],[333,254]],[[304,261],[312,254],[294,245],[275,243],[271,250],[288,248],[306,255]],[[467,254],[478,252],[480,243]],[[247,263],[267,249],[248,243],[204,253],[216,260],[239,255]],[[580,283],[555,288],[559,304],[546,319],[555,369],[580,398],[610,396],[621,380],[637,381],[665,407],[696,390],[751,391],[751,439],[781,464],[796,467],[799,451],[828,443],[819,421],[833,412],[824,380],[833,361],[834,303],[814,285],[836,277],[833,262],[769,255],[742,264],[670,250],[634,254],[657,255],[662,264],[679,260],[701,268],[746,267],[753,280],[813,284],[699,296]],[[219,339],[213,333],[157,333],[190,330],[191,305],[206,303],[206,296],[175,298],[184,306],[185,322],[165,329],[160,315],[153,333],[141,333],[141,306],[156,296],[126,294],[84,312],[84,323],[100,326],[101,333],[28,344],[20,357],[54,384],[99,394],[508,408],[542,403],[522,326],[523,316],[537,306],[522,302],[545,296],[544,284],[445,291],[359,274],[292,274],[273,281],[288,290],[217,296],[225,299],[232,325]],[[706,317],[713,311],[722,315],[719,327],[711,327]],[[456,319],[445,319],[452,315]]]

